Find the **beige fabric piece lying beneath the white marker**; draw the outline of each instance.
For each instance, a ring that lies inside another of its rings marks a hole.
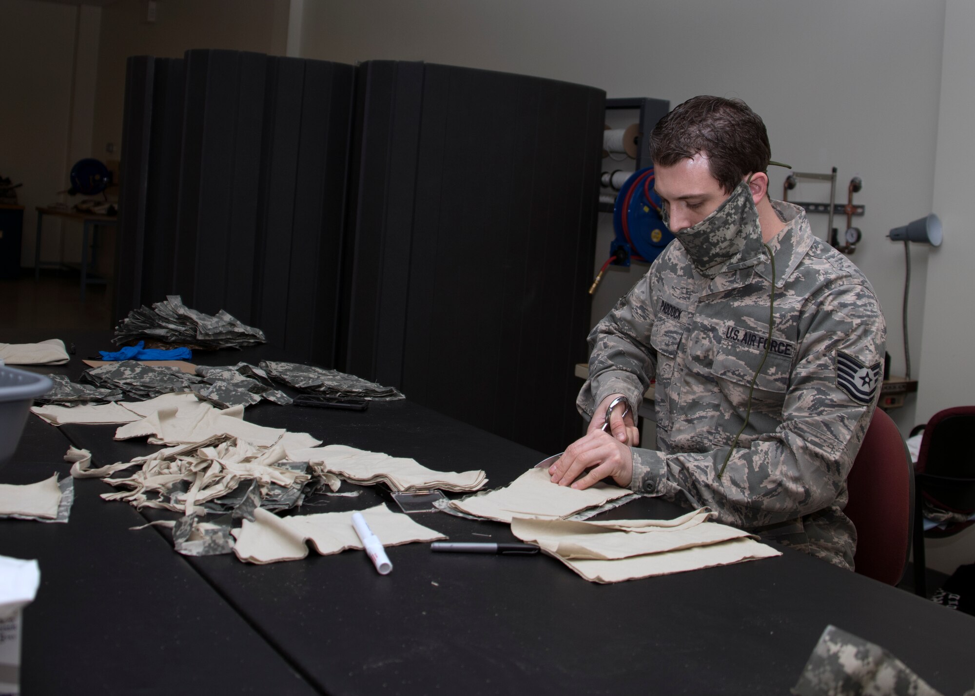
[[[258,508],[254,511],[254,522],[245,520],[240,529],[231,532],[237,538],[234,554],[241,561],[273,563],[305,558],[308,556],[306,542],[311,542],[322,556],[346,549],[362,549],[362,541],[352,526],[354,512],[279,518]],[[447,538],[434,529],[413,522],[408,515],[390,511],[385,505],[361,512],[383,546]]]

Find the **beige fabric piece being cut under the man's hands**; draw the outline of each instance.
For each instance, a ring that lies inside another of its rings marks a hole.
[[[498,522],[511,522],[515,517],[561,520],[630,492],[627,488],[604,482],[577,490],[552,483],[547,470],[532,468],[504,488],[452,500],[449,507]]]

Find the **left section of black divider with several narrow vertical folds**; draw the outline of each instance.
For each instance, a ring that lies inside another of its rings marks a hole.
[[[355,67],[130,58],[115,319],[180,294],[333,366]]]

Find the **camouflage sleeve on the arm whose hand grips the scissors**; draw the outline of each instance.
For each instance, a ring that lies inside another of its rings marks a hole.
[[[656,367],[648,340],[653,328],[649,273],[589,332],[589,379],[575,401],[590,418],[610,394],[622,394],[636,413]]]

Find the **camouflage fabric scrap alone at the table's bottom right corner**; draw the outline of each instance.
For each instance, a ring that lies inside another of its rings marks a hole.
[[[941,696],[882,647],[836,626],[826,627],[792,692],[796,696]]]

